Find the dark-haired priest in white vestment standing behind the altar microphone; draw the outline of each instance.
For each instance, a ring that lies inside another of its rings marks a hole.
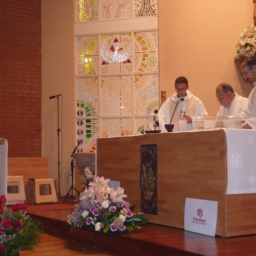
[[[172,94],[163,103],[157,115],[154,115],[153,120],[159,122],[159,129],[162,132],[167,132],[164,125],[169,124],[171,119],[171,124],[174,125],[173,131],[191,131],[197,129],[198,116],[209,116],[203,102],[188,88],[188,80],[184,76],[178,77],[175,80],[176,93]],[[179,118],[180,114],[183,114],[186,120]]]

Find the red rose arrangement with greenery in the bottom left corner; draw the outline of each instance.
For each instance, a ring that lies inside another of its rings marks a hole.
[[[26,215],[25,204],[6,207],[5,195],[0,196],[0,256],[15,256],[20,250],[34,250],[44,228]]]

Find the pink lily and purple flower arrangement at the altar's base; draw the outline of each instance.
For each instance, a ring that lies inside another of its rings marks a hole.
[[[77,227],[87,227],[99,232],[127,231],[131,233],[134,227],[141,229],[140,224],[148,222],[143,212],[133,213],[131,207],[123,198],[124,189],[114,190],[108,183],[110,179],[96,177],[89,183],[80,195],[80,203],[75,205],[72,215],[68,215],[71,230]]]

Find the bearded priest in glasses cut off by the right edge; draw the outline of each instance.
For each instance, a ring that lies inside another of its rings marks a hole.
[[[247,108],[242,111],[242,129],[256,129],[256,58],[248,58],[240,67],[244,80],[253,82],[254,88],[248,97]]]

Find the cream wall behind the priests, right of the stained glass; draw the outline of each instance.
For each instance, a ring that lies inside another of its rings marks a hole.
[[[236,42],[253,24],[253,0],[159,0],[160,90],[169,97],[178,76],[186,76],[190,90],[210,116],[220,108],[215,88],[231,84],[242,96],[253,86],[245,83],[237,64]]]

